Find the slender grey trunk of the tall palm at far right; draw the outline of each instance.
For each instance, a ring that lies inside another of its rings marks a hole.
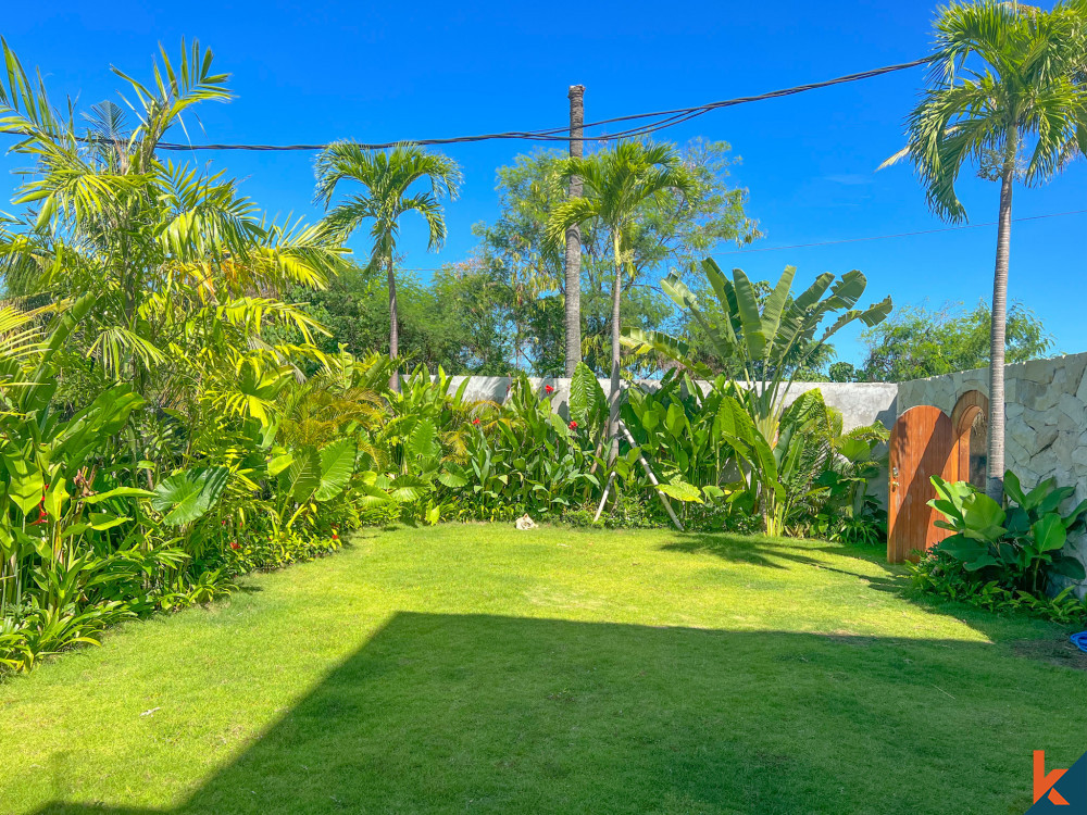
[[[986,493],[1000,501],[1004,493],[1004,333],[1008,315],[1008,266],[1012,236],[1012,186],[1019,133],[1008,134],[1008,153],[1000,177],[997,263],[992,273],[992,328],[989,334],[989,449]]]

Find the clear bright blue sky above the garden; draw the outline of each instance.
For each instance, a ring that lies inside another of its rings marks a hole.
[[[570,8],[576,20],[561,12]],[[183,36],[214,49],[237,99],[200,112],[207,140],[378,141],[560,126],[566,88],[586,86],[586,116],[670,109],[814,82],[924,55],[928,2],[772,5],[647,2],[448,4],[364,2],[226,3],[193,0],[101,4],[9,3],[0,34],[27,66],[40,66],[55,101],[116,100],[111,64],[147,77],[159,42],[176,53]],[[902,118],[923,71],[709,113],[665,131],[684,142],[724,139],[742,156],[735,180],[767,247],[917,231],[944,226],[925,208],[907,166],[875,168],[902,143]],[[195,135],[193,140],[200,140]],[[462,259],[472,224],[496,214],[495,170],[524,142],[448,150],[465,184],[448,210],[445,250],[428,255],[422,228],[404,225],[407,265]],[[316,214],[312,155],[214,153],[217,168],[271,212]],[[203,159],[203,156],[202,156]],[[0,167],[17,162],[7,159]],[[1016,188],[1015,216],[1087,209],[1087,162],[1040,189]],[[10,197],[13,181],[0,180]],[[997,188],[964,177],[971,222],[996,217]],[[1087,214],[1016,224],[1010,297],[1040,315],[1057,350],[1087,350],[1075,296],[1087,254]],[[801,281],[860,268],[871,300],[969,304],[991,293],[995,227],[859,243],[721,254],[755,278],[783,266]],[[365,251],[364,240],[355,249]],[[726,247],[724,249],[732,249]],[[722,264],[724,265],[724,263]],[[855,334],[855,333],[854,333]],[[838,342],[859,361],[854,334]]]

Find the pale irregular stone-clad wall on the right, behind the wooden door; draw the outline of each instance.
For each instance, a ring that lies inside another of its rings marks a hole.
[[[1005,368],[1004,464],[1025,488],[1053,477],[1087,498],[1087,353],[1033,360]],[[898,412],[932,404],[948,415],[969,390],[989,394],[987,368],[964,371],[898,387]],[[1087,562],[1087,536],[1070,541]],[[1079,593],[1087,592],[1087,584]]]

